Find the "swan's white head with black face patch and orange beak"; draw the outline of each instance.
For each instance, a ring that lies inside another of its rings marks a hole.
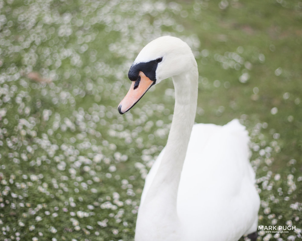
[[[190,47],[181,39],[163,36],[149,42],[130,67],[128,78],[132,84],[118,106],[119,113],[130,110],[151,86],[190,70],[194,63]]]

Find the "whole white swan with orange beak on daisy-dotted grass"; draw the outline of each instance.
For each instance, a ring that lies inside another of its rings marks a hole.
[[[135,240],[235,241],[244,234],[255,240],[260,198],[248,132],[236,119],[224,126],[194,124],[198,69],[190,47],[159,37],[141,50],[128,77],[120,114],[168,77],[175,88],[168,141],[146,177]]]

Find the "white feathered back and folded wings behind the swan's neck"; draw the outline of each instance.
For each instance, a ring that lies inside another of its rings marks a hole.
[[[202,227],[204,240],[238,240],[256,230],[260,199],[248,143],[238,120],[194,125],[177,197],[188,240],[199,240]]]

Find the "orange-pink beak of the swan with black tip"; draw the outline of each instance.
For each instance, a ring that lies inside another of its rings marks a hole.
[[[154,83],[155,81],[150,80],[142,71],[140,71],[137,80],[132,81],[128,93],[118,105],[118,112],[124,114],[129,111]]]

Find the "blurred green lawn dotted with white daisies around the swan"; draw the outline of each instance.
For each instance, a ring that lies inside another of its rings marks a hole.
[[[1,240],[133,240],[172,81],[117,105],[140,49],[164,35],[196,57],[196,122],[249,130],[259,225],[296,227],[258,240],[301,239],[301,1],[0,0]]]

